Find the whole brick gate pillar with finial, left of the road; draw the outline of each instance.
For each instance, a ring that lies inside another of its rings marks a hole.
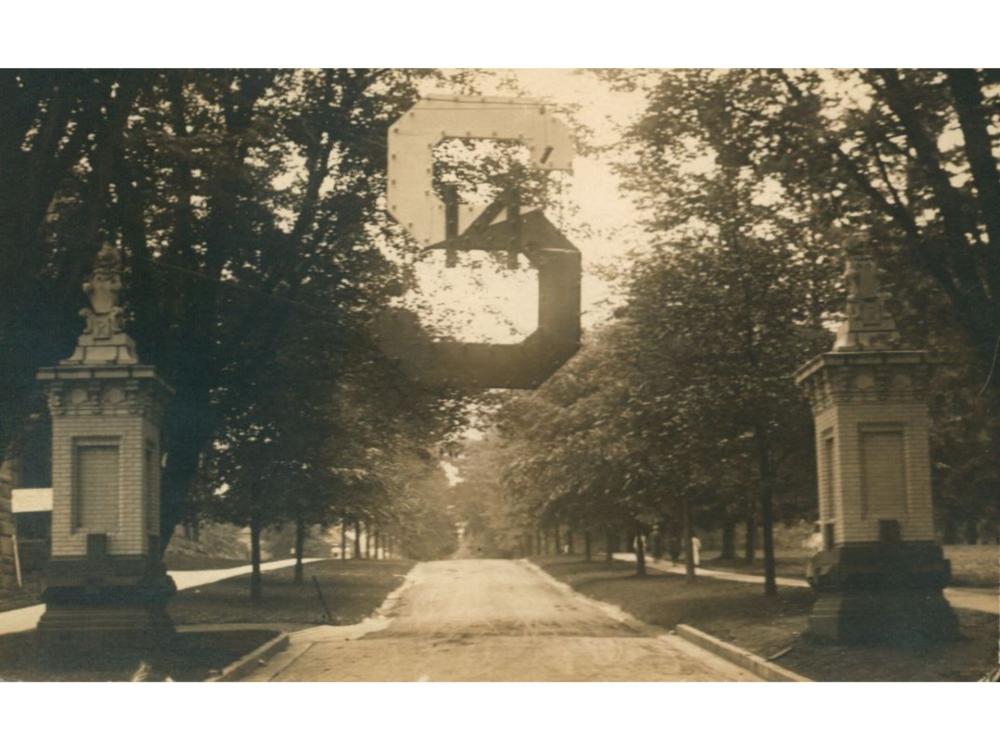
[[[52,556],[45,645],[148,646],[173,632],[160,561],[160,422],[170,388],[122,330],[111,245],[83,285],[76,351],[39,371],[52,415]]]

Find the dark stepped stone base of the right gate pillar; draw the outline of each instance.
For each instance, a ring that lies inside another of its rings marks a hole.
[[[950,565],[931,542],[852,544],[809,564],[818,598],[809,634],[839,643],[927,642],[958,637],[942,589]]]

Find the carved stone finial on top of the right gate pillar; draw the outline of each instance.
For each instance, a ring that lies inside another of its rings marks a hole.
[[[899,342],[896,321],[885,310],[888,294],[879,292],[878,266],[857,250],[849,251],[844,268],[847,318],[837,329],[834,351],[893,349]]]

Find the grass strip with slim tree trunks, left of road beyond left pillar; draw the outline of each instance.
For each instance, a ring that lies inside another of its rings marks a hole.
[[[305,566],[305,580],[295,583],[293,568],[264,573],[264,596],[250,602],[250,576],[228,578],[178,592],[170,616],[178,625],[281,623],[306,627],[327,622],[315,577],[332,614],[330,624],[351,625],[370,615],[402,583],[413,563],[401,560],[322,560]]]

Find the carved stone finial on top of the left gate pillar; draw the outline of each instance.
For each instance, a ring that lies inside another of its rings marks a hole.
[[[122,290],[121,251],[105,242],[94,259],[94,270],[83,282],[90,307],[80,310],[86,324],[76,351],[63,364],[138,364],[135,342],[124,332],[124,310],[118,304]]]

